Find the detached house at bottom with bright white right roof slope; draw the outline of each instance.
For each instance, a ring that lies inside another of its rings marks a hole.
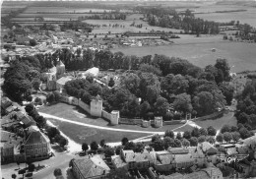
[[[89,158],[73,159],[72,171],[77,179],[99,179],[105,178],[110,168],[99,155],[94,155]]]

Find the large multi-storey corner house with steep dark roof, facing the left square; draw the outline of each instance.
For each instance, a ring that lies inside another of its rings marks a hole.
[[[22,148],[27,160],[48,158],[51,153],[50,140],[39,130],[27,134]]]

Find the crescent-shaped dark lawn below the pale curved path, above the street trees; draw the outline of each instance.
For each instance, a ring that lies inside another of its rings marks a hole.
[[[67,122],[57,121],[54,119],[48,120],[52,122],[55,126],[57,126],[57,128],[60,131],[62,131],[65,135],[67,135],[70,139],[79,144],[85,142],[90,144],[93,141],[99,143],[102,139],[104,139],[106,143],[113,143],[120,142],[124,137],[128,138],[129,140],[135,140],[150,135],[141,133],[98,130]]]

